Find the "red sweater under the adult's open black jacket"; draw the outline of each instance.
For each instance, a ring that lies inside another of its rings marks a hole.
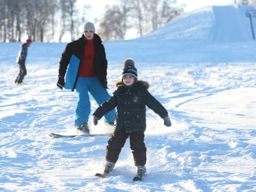
[[[85,45],[85,48],[84,48],[84,58],[82,60],[80,70],[79,70],[79,77],[96,76],[93,69],[93,61],[94,61],[94,41],[87,40],[87,44]]]

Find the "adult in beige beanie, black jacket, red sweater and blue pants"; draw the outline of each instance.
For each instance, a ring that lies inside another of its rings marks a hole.
[[[89,93],[98,105],[107,101],[107,59],[102,40],[95,33],[94,24],[84,23],[83,34],[66,45],[60,58],[57,86],[76,90],[77,105],[74,127],[77,133],[90,133],[88,118],[91,112]],[[105,122],[113,125],[115,110],[105,115]]]

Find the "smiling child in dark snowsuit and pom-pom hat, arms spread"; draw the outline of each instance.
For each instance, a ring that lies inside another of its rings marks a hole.
[[[168,112],[149,91],[149,84],[143,80],[137,80],[137,69],[132,59],[126,59],[123,63],[122,80],[116,82],[116,91],[113,96],[99,106],[93,113],[93,123],[105,113],[117,107],[115,132],[108,140],[105,158],[104,175],[112,171],[118,160],[119,153],[127,138],[130,137],[130,149],[133,160],[137,166],[137,175],[140,180],[146,174],[146,146],[144,143],[144,131],[146,129],[146,105],[163,118],[165,126],[171,126]]]

